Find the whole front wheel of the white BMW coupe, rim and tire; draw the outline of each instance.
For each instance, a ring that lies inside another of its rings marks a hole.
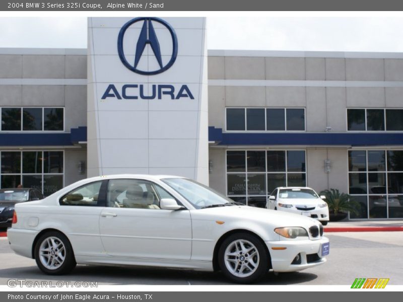
[[[260,240],[248,233],[236,233],[224,240],[218,263],[224,275],[238,283],[251,283],[268,271],[269,256]]]

